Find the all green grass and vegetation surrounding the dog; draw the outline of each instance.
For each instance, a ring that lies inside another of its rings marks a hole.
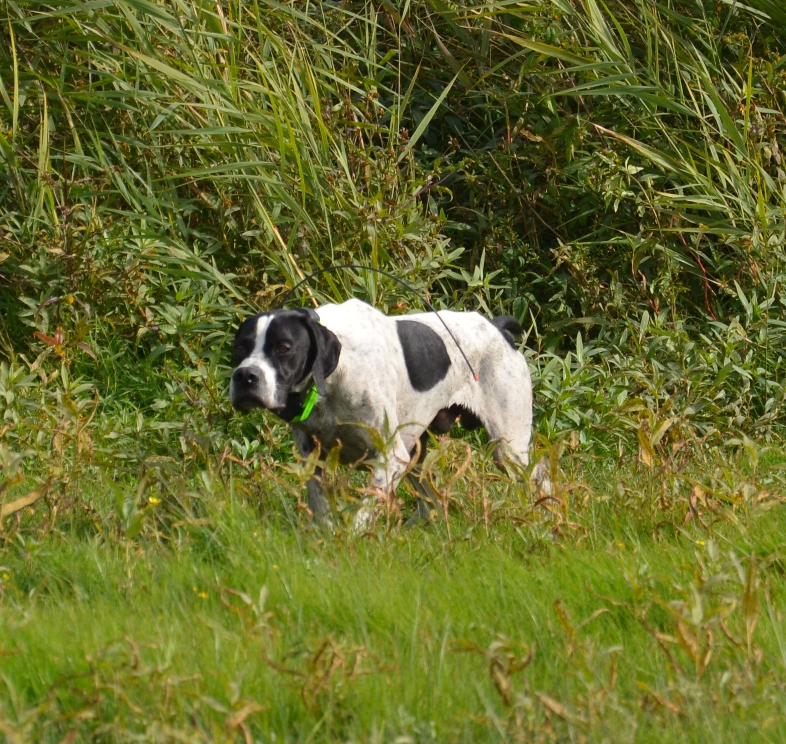
[[[0,16],[8,741],[786,741],[780,0]],[[342,262],[523,322],[552,498],[310,530],[228,341]]]

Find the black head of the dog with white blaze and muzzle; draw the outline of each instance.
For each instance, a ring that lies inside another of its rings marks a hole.
[[[247,318],[233,345],[233,408],[281,412],[309,376],[324,395],[325,378],[336,369],[340,353],[339,339],[319,324],[313,310],[274,310]]]

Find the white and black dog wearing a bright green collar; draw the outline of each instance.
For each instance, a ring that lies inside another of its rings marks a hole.
[[[446,310],[388,317],[358,299],[259,313],[235,337],[230,398],[238,411],[268,409],[291,423],[304,457],[340,446],[343,464],[373,458],[374,490],[388,497],[413,464],[418,441],[419,464],[428,431],[446,434],[460,417],[465,428],[483,426],[498,442],[495,460],[527,465],[532,386],[513,345],[520,333],[512,317],[488,321]],[[386,442],[385,451],[374,442]],[[428,519],[424,500],[435,503],[434,494],[417,466],[410,475],[420,494],[413,519]],[[328,511],[320,477],[317,469],[307,484],[318,517]]]

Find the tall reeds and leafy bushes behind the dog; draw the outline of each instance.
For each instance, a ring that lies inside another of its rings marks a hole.
[[[174,493],[283,459],[284,430],[227,410],[226,341],[341,262],[519,317],[547,442],[652,461],[778,436],[781,15],[7,5],[2,433],[37,481],[13,488],[152,470]],[[421,306],[362,270],[290,302],[350,295]]]

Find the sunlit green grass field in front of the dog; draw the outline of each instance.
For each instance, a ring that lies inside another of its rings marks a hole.
[[[500,478],[476,493],[473,475],[447,521],[363,538],[238,475],[148,502],[129,538],[105,532],[96,487],[83,514],[3,551],[2,731],[786,741],[786,516],[766,490],[781,476],[737,464],[715,464],[728,488],[711,508],[698,472],[667,493],[600,471],[541,504]]]

